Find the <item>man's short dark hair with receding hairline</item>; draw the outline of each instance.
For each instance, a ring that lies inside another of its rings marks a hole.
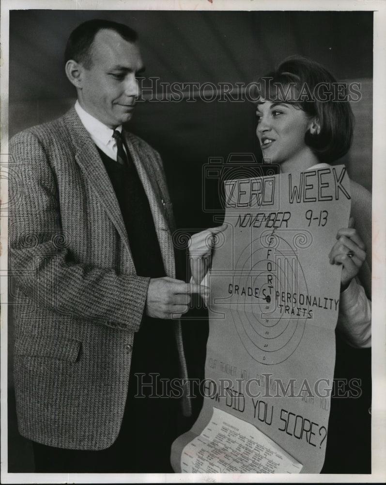
[[[138,39],[137,32],[127,25],[99,18],[87,20],[87,22],[78,25],[77,28],[71,32],[64,51],[64,63],[67,63],[67,61],[71,59],[82,64],[86,69],[90,69],[93,65],[91,46],[95,35],[102,29],[108,29],[119,33],[119,35],[124,38],[124,40],[127,40],[127,42],[135,42]]]

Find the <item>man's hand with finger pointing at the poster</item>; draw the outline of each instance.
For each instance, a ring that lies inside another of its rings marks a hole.
[[[180,318],[188,310],[191,293],[207,295],[209,288],[169,277],[152,278],[147,290],[146,315],[154,318]]]

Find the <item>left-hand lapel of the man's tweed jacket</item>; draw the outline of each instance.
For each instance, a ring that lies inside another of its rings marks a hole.
[[[108,217],[130,253],[129,240],[118,200],[98,150],[74,108],[65,115],[64,119],[75,147],[75,159],[92,183],[96,196],[105,207]]]

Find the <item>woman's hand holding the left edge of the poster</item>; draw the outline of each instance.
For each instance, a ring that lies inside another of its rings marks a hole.
[[[212,251],[216,245],[216,235],[224,231],[226,224],[218,227],[210,227],[194,234],[189,241],[190,272],[193,283],[200,284],[207,274],[212,259]]]

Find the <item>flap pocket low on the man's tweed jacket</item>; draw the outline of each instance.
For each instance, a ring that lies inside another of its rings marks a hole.
[[[28,357],[51,357],[75,362],[81,342],[74,339],[22,335],[15,341],[15,355]]]

